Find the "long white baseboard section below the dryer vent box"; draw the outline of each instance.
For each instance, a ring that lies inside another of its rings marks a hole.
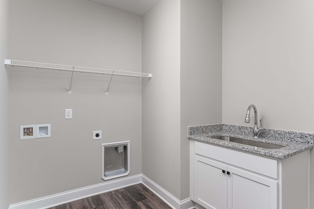
[[[47,209],[107,191],[141,183],[141,174],[10,205],[9,209]]]

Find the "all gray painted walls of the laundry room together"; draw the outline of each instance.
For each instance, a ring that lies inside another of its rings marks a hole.
[[[109,76],[78,73],[68,94],[70,73],[10,67],[11,203],[104,182],[100,144],[129,139],[130,175],[143,173],[183,200],[186,127],[252,126],[243,121],[250,103],[265,128],[314,133],[310,0],[226,0],[222,29],[218,0],[159,0],[144,15],[143,30],[141,17],[88,0],[10,2],[9,58],[129,71],[143,65],[154,74],[142,81],[114,77],[105,95]],[[5,46],[8,0],[0,3]],[[6,53],[1,47],[0,57]],[[8,88],[0,73],[2,168],[9,155]],[[73,119],[64,119],[66,108]],[[20,125],[41,123],[52,124],[51,138],[19,139]],[[91,140],[94,130],[103,130],[102,140]],[[0,175],[0,204],[7,208],[8,172]],[[312,196],[313,178],[312,150]]]

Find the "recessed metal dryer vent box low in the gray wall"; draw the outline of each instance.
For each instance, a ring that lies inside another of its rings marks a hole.
[[[130,141],[102,144],[102,178],[127,176],[130,173]]]

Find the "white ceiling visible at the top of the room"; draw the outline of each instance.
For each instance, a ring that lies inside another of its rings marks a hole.
[[[92,0],[142,16],[157,0]]]

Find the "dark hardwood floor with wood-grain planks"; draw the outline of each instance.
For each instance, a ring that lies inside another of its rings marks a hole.
[[[51,209],[171,209],[142,184],[109,191]]]

